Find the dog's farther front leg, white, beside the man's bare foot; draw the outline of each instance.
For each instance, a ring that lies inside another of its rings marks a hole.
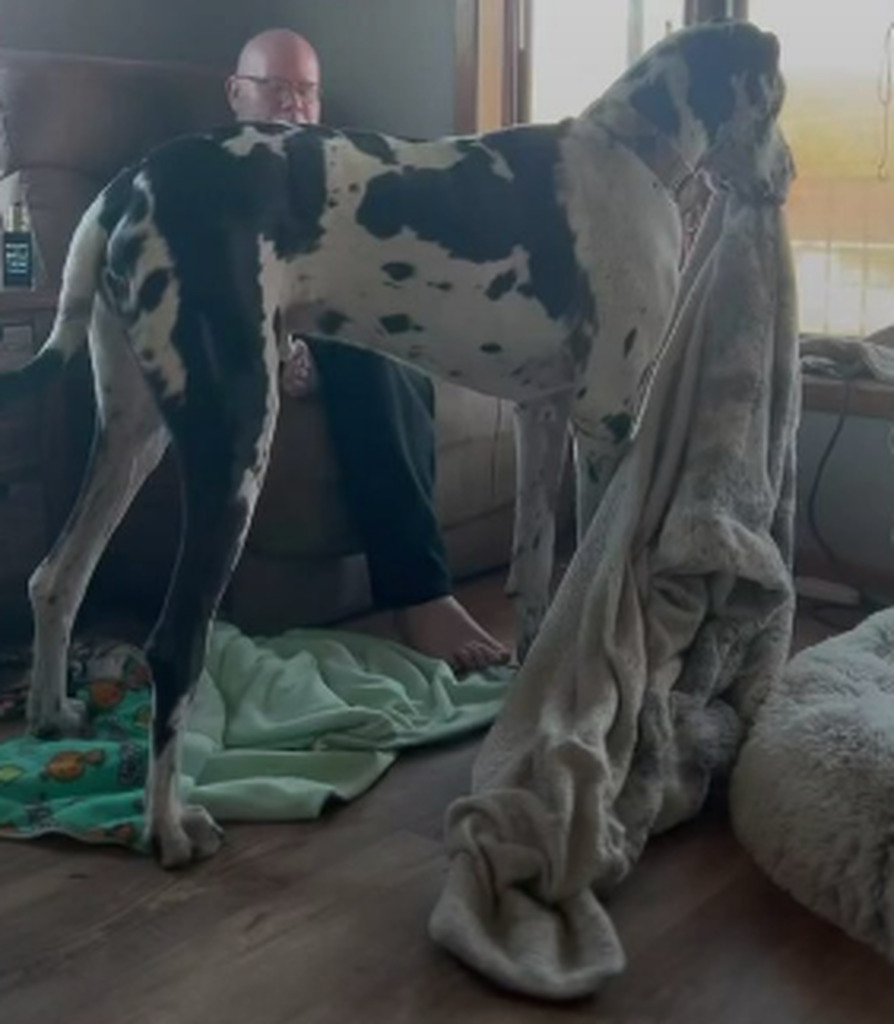
[[[518,483],[507,592],[516,601],[518,656],[527,653],[546,612],[556,538],[556,506],[567,451],[570,392],[522,402],[515,412]]]

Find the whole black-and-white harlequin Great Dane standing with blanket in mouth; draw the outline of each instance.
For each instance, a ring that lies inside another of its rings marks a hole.
[[[176,140],[117,177],[72,240],[44,348],[0,401],[89,345],[97,432],[62,537],[31,580],[30,720],[81,728],[66,695],[72,624],[110,535],[167,444],[181,549],[148,642],[155,684],[146,820],[162,862],[220,833],[178,796],[178,734],[209,622],[264,478],[292,332],[376,349],[517,404],[510,589],[522,648],[548,600],[570,422],[579,524],[633,437],[678,286],[677,190],[705,168],[776,195],[784,145],[774,37],[686,30],[583,115],[408,141],[253,125]]]

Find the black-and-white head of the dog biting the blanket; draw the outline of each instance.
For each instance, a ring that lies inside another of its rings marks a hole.
[[[700,166],[753,199],[784,198],[794,176],[777,119],[785,97],[779,42],[748,22],[683,32],[685,102],[705,133]]]

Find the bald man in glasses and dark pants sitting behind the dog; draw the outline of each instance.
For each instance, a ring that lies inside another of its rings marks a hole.
[[[295,32],[250,39],[227,79],[239,121],[315,124],[321,117],[316,51]],[[344,345],[294,347],[284,390],[313,385],[315,367],[330,432],[370,568],[376,604],[393,609],[409,646],[459,671],[500,664],[508,650],[452,594],[434,508],[434,391],[418,372]]]

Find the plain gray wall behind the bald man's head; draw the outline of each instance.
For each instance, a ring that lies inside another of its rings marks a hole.
[[[323,58],[326,119],[396,134],[454,126],[456,0],[0,0],[0,46],[228,69],[285,26]]]

